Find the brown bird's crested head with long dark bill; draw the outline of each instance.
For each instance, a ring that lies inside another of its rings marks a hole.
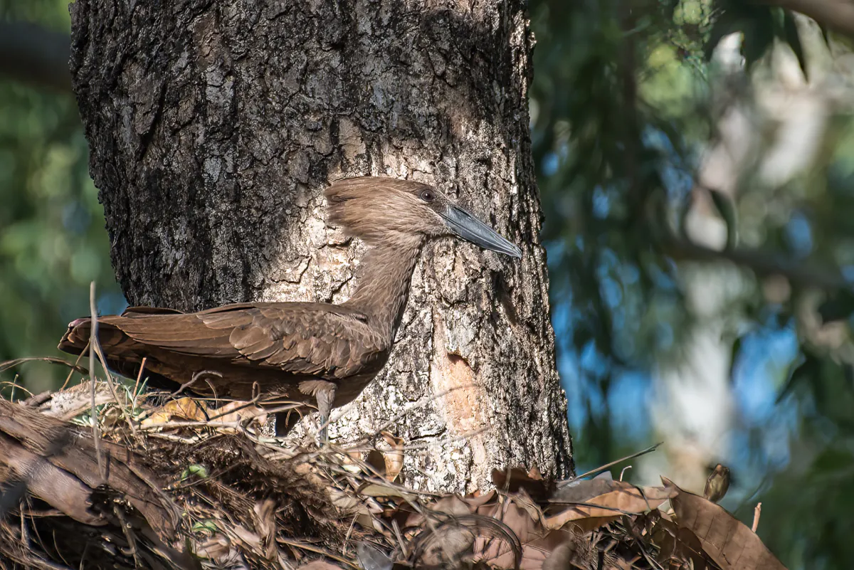
[[[514,258],[522,251],[429,184],[386,177],[344,178],[325,191],[330,222],[369,245],[456,236]]]

